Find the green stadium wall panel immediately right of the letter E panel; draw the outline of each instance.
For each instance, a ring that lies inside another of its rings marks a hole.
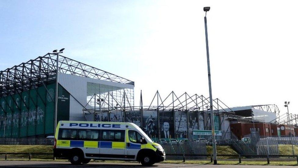
[[[35,136],[35,122],[36,122],[36,106],[37,103],[37,89],[29,91],[29,113],[28,113],[28,136]]]

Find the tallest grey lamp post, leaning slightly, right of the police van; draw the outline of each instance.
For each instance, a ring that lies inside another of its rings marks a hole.
[[[210,64],[209,64],[209,46],[208,46],[208,32],[207,32],[207,11],[210,10],[210,7],[204,7],[205,11],[205,37],[206,37],[206,52],[207,52],[207,65],[208,65],[208,80],[209,80],[209,99],[210,99],[210,118],[211,118],[211,129],[212,129],[212,147],[213,147],[213,164],[217,165],[217,156],[216,156],[216,142],[215,142],[215,132],[214,132],[214,114],[213,114],[213,99],[212,99],[212,90],[211,90],[211,73],[210,73]]]

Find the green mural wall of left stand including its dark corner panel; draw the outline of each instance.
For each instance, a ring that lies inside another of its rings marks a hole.
[[[55,85],[47,85],[0,98],[0,137],[53,134]],[[59,85],[58,118],[69,120],[70,94]]]

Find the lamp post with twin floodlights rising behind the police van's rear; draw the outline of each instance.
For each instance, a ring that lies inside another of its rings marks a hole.
[[[58,114],[58,73],[59,73],[59,54],[63,53],[63,50],[65,48],[62,48],[57,52],[57,50],[53,50],[53,54],[56,54],[56,88],[55,88],[55,117],[54,117],[54,136],[56,134],[56,128],[57,128],[57,114]]]

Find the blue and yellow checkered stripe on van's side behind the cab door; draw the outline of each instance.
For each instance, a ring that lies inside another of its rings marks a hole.
[[[124,149],[125,142],[108,142],[108,141],[81,141],[81,140],[57,140],[59,147],[89,147],[89,148],[113,148]],[[140,149],[140,148],[138,148]]]

